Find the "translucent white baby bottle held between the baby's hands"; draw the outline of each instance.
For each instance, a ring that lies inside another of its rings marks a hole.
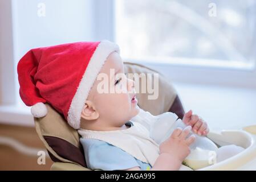
[[[134,119],[147,127],[150,131],[150,137],[156,143],[161,144],[170,137],[174,129],[177,129],[177,127],[184,129],[186,127],[181,119],[177,118],[176,114],[170,112],[155,116],[140,109],[140,113]],[[192,134],[194,133],[190,132],[188,137]],[[207,137],[194,135],[196,140],[190,145],[191,152],[184,160],[185,164],[192,169],[199,169],[216,163],[216,151],[218,149],[216,144]]]

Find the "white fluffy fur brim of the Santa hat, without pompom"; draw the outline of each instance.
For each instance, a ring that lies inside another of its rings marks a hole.
[[[87,100],[88,94],[94,85],[100,69],[103,67],[107,57],[115,51],[119,53],[119,46],[117,46],[117,44],[109,42],[108,40],[103,40],[99,43],[94,54],[92,55],[86,68],[86,72],[84,72],[75,96],[71,101],[67,114],[68,124],[74,129],[80,128],[80,118],[84,103]]]

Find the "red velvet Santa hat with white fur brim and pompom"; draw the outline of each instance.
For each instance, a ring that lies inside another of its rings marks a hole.
[[[47,114],[44,103],[63,114],[74,129],[88,94],[112,52],[119,47],[108,40],[78,42],[31,49],[18,63],[19,94],[34,117]]]

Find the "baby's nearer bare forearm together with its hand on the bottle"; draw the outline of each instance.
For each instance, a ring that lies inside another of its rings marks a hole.
[[[194,142],[196,137],[188,134],[192,129],[191,126],[187,126],[183,131],[177,128],[173,131],[172,135],[164,142],[160,144],[160,155],[156,159],[156,162],[151,170],[178,170],[181,167],[181,163],[190,153],[190,144]],[[140,170],[139,167],[127,169]]]

